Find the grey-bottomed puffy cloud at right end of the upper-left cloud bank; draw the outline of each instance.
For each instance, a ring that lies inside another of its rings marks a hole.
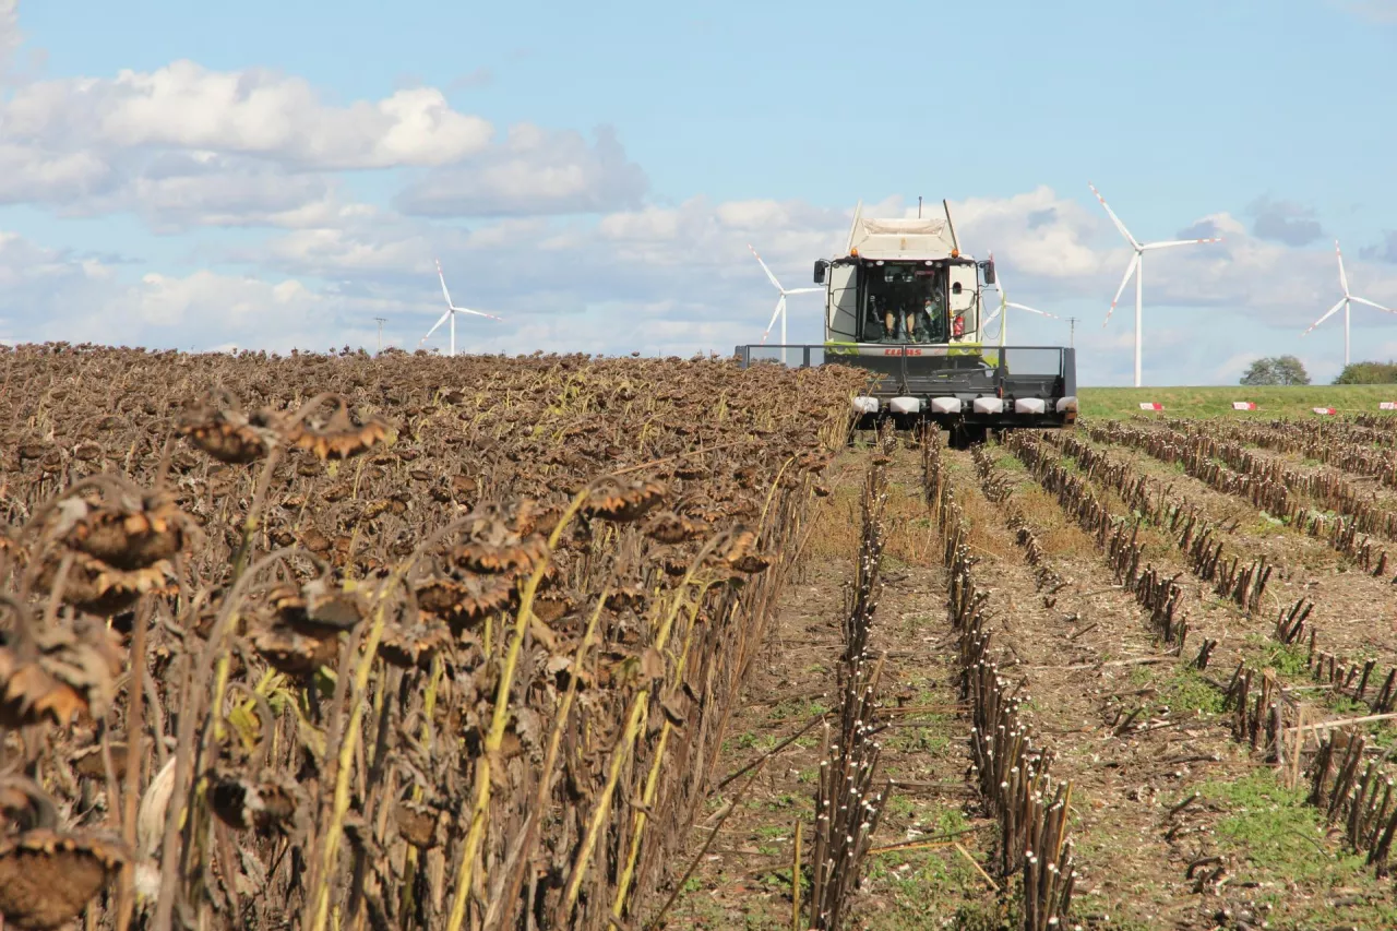
[[[648,186],[610,127],[588,145],[580,133],[520,123],[503,145],[414,179],[395,205],[422,217],[590,214],[636,207]]]

